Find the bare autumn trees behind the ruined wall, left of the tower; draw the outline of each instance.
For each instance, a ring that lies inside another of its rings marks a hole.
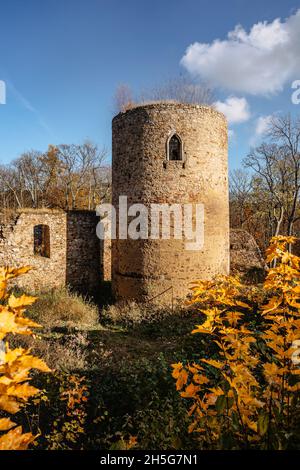
[[[91,142],[50,145],[0,166],[0,207],[95,209],[110,198],[107,153]]]

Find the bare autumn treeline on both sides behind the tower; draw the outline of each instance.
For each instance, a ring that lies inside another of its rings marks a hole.
[[[90,209],[111,198],[107,152],[91,142],[50,145],[0,166],[0,209]],[[274,116],[265,141],[230,174],[230,223],[264,250],[274,235],[300,235],[300,118]]]

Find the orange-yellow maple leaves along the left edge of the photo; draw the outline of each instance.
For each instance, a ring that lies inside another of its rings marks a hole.
[[[0,340],[8,334],[32,334],[30,328],[39,325],[23,316],[28,305],[35,302],[35,297],[7,293],[7,283],[31,268],[0,268]],[[0,354],[0,410],[15,414],[33,396],[39,393],[36,387],[29,385],[31,370],[38,369],[49,372],[50,369],[39,358],[32,356],[22,348],[11,350],[8,343]],[[0,431],[6,432],[0,436],[0,450],[24,450],[35,439],[31,433],[22,433],[22,428],[16,426],[9,418],[0,419]]]

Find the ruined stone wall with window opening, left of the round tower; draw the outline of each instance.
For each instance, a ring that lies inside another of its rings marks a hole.
[[[18,279],[29,290],[69,285],[84,294],[99,289],[101,281],[98,219],[94,212],[24,210],[9,224],[0,223],[0,266],[30,265],[34,269]],[[47,225],[50,257],[34,253],[34,227]]]

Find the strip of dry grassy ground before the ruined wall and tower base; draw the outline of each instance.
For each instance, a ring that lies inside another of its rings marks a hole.
[[[178,339],[190,336],[196,322],[184,306],[172,311],[123,302],[101,312],[101,325],[98,308],[66,289],[36,295],[39,298],[27,316],[42,328],[36,329],[34,337],[11,335],[10,345],[30,348],[53,370],[117,370],[120,360],[150,360],[162,352],[173,355]]]

